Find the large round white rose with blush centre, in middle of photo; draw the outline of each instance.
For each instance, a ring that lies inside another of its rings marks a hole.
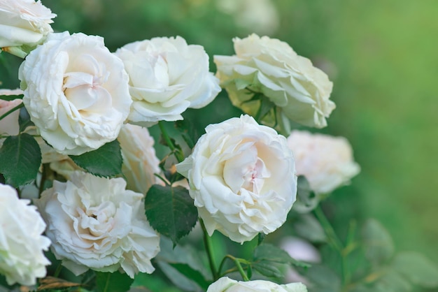
[[[176,168],[209,235],[218,230],[235,242],[283,225],[297,193],[286,139],[248,115],[207,126]]]

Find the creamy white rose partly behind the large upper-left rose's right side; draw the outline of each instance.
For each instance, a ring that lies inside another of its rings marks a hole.
[[[183,119],[187,108],[202,108],[220,92],[219,80],[209,72],[209,55],[181,36],[129,43],[115,54],[129,74],[133,124]]]

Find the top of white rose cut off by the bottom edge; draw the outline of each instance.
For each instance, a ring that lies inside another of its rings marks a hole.
[[[276,284],[264,280],[236,281],[229,277],[222,277],[209,286],[207,292],[307,292],[302,283]]]

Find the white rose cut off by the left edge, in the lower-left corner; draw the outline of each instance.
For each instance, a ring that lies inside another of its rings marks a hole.
[[[41,235],[45,223],[29,202],[19,199],[12,187],[0,184],[0,273],[9,285],[34,285],[50,265],[43,253],[50,245]]]

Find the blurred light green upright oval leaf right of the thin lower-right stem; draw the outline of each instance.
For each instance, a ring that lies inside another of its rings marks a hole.
[[[369,219],[365,222],[362,228],[362,239],[365,245],[365,256],[370,262],[379,265],[393,256],[393,240],[379,221]]]

